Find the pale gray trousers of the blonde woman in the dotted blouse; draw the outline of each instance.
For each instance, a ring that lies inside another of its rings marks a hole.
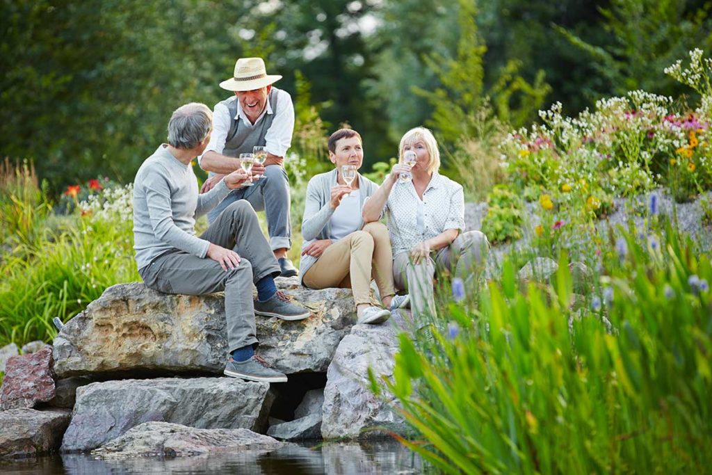
[[[487,236],[480,231],[468,231],[436,251],[434,259],[429,256],[414,264],[409,251],[393,256],[393,281],[397,289],[410,294],[413,316],[437,315],[433,289],[436,271],[450,271],[465,281],[481,270],[489,247]]]

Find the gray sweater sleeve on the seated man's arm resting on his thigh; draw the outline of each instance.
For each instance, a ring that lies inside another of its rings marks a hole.
[[[165,179],[155,176],[148,181],[152,186],[146,188],[146,204],[156,239],[193,256],[204,258],[210,243],[175,225],[171,211],[170,189]]]

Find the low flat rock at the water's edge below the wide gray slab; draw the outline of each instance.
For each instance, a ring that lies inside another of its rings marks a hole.
[[[93,450],[92,454],[103,459],[194,456],[226,450],[270,451],[283,445],[249,429],[195,429],[169,422],[145,422]]]

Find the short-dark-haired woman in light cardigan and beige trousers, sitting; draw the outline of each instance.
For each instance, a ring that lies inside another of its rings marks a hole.
[[[331,172],[309,180],[302,221],[300,276],[309,288],[351,288],[358,323],[382,323],[391,310],[409,304],[408,296],[395,296],[391,245],[386,226],[364,226],[362,208],[378,189],[357,170],[363,162],[361,135],[340,129],[329,137]],[[344,168],[352,167],[352,182]],[[375,220],[377,221],[377,219]],[[374,278],[384,308],[371,305],[370,283]]]

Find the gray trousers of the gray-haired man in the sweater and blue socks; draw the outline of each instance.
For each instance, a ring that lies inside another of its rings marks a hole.
[[[229,351],[257,342],[252,301],[253,283],[276,277],[280,267],[272,254],[254,209],[245,200],[226,207],[201,236],[212,244],[233,249],[239,266],[223,271],[209,257],[201,259],[175,249],[151,261],[139,273],[147,287],[164,293],[201,296],[225,291],[225,318]]]

